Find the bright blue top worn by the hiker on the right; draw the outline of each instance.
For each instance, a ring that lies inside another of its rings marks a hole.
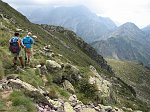
[[[22,43],[24,44],[24,46],[26,46],[26,48],[31,48],[34,40],[32,37],[26,36],[23,38]]]

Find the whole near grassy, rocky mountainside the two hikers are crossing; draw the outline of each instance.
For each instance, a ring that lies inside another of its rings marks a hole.
[[[71,94],[76,94],[79,99],[75,98],[79,103],[75,106],[87,109],[95,110],[87,105],[93,102],[100,104],[98,109],[103,111],[108,109],[104,105],[149,110],[136,98],[134,89],[115,77],[106,60],[74,32],[60,26],[32,24],[8,4],[0,1],[0,6],[0,111],[36,112],[41,111],[41,107],[56,112],[68,108],[75,111],[74,104],[68,99],[74,98]],[[11,66],[8,40],[16,28],[22,29],[21,37],[27,31],[37,36],[29,68]],[[71,88],[65,88],[66,85]]]

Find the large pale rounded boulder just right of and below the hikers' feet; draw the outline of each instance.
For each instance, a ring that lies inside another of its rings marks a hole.
[[[57,72],[61,70],[61,65],[53,60],[46,60],[46,67],[48,71]]]

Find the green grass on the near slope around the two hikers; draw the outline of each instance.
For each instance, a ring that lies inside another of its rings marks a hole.
[[[11,67],[12,65],[12,56],[10,52],[8,51],[8,40],[13,35],[16,28],[21,28],[24,30],[22,32],[21,37],[26,35],[27,30],[32,31],[33,34],[37,35],[38,39],[36,39],[36,43],[34,45],[35,50],[39,50],[40,48],[43,48],[45,45],[51,45],[52,50],[55,54],[62,54],[63,58],[61,58],[62,62],[70,62],[73,65],[78,66],[78,68],[82,71],[83,74],[86,75],[86,73],[89,72],[89,65],[95,66],[99,71],[103,72],[103,70],[95,61],[93,61],[88,55],[86,55],[82,50],[78,48],[78,46],[75,45],[75,43],[69,42],[64,34],[62,33],[55,33],[54,35],[57,37],[52,37],[49,33],[44,31],[39,25],[35,25],[30,23],[24,16],[16,12],[13,8],[10,8],[7,4],[4,4],[0,1],[0,9],[2,9],[2,14],[4,17],[8,18],[9,20],[13,18],[15,20],[15,24],[7,22],[3,19],[0,19],[0,22],[7,28],[0,29],[0,79],[4,78],[5,76],[8,76],[9,74],[18,74],[19,77],[27,82],[32,84],[33,86],[43,86],[43,81],[40,78],[40,76],[33,71],[33,69],[28,69],[25,72],[18,72],[14,71],[14,69]],[[8,17],[9,15],[9,17]],[[65,42],[71,49],[74,49],[75,52],[73,52],[70,49],[66,49],[64,45],[60,42]],[[36,56],[34,57],[34,63],[39,64],[41,61],[45,62],[45,60],[48,59],[44,56]],[[32,74],[32,77],[31,77]],[[104,73],[105,75],[107,72]],[[109,73],[108,73],[109,74]],[[51,75],[51,74],[50,74]],[[55,74],[54,74],[55,75]],[[58,94],[58,96],[61,97],[68,97],[68,93],[62,89],[61,86],[58,86],[56,84],[52,84],[51,77],[48,77],[49,79],[49,85],[46,87],[49,91],[53,91],[53,93]],[[50,88],[50,89],[49,89]],[[0,92],[0,97],[2,97],[3,92]],[[12,95],[16,94],[15,97],[12,98]],[[20,98],[20,101],[16,101],[16,97],[19,96],[19,91],[14,91],[12,95],[10,95],[7,99],[1,99],[0,107],[6,111],[27,111],[30,109],[31,111],[35,111],[35,107],[33,104],[25,105],[26,101],[30,101],[26,96],[22,96]],[[55,94],[54,94],[55,96]],[[56,95],[57,96],[57,95]],[[7,103],[11,101],[13,104],[10,106],[10,108],[7,108]],[[14,110],[16,108],[16,110]],[[1,111],[1,110],[0,110]]]

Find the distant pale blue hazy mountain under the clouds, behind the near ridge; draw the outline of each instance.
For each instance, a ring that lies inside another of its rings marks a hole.
[[[31,13],[23,8],[18,10],[33,23],[63,26],[76,32],[88,43],[116,28],[112,20],[98,17],[84,6],[46,8],[40,16],[34,10]]]

